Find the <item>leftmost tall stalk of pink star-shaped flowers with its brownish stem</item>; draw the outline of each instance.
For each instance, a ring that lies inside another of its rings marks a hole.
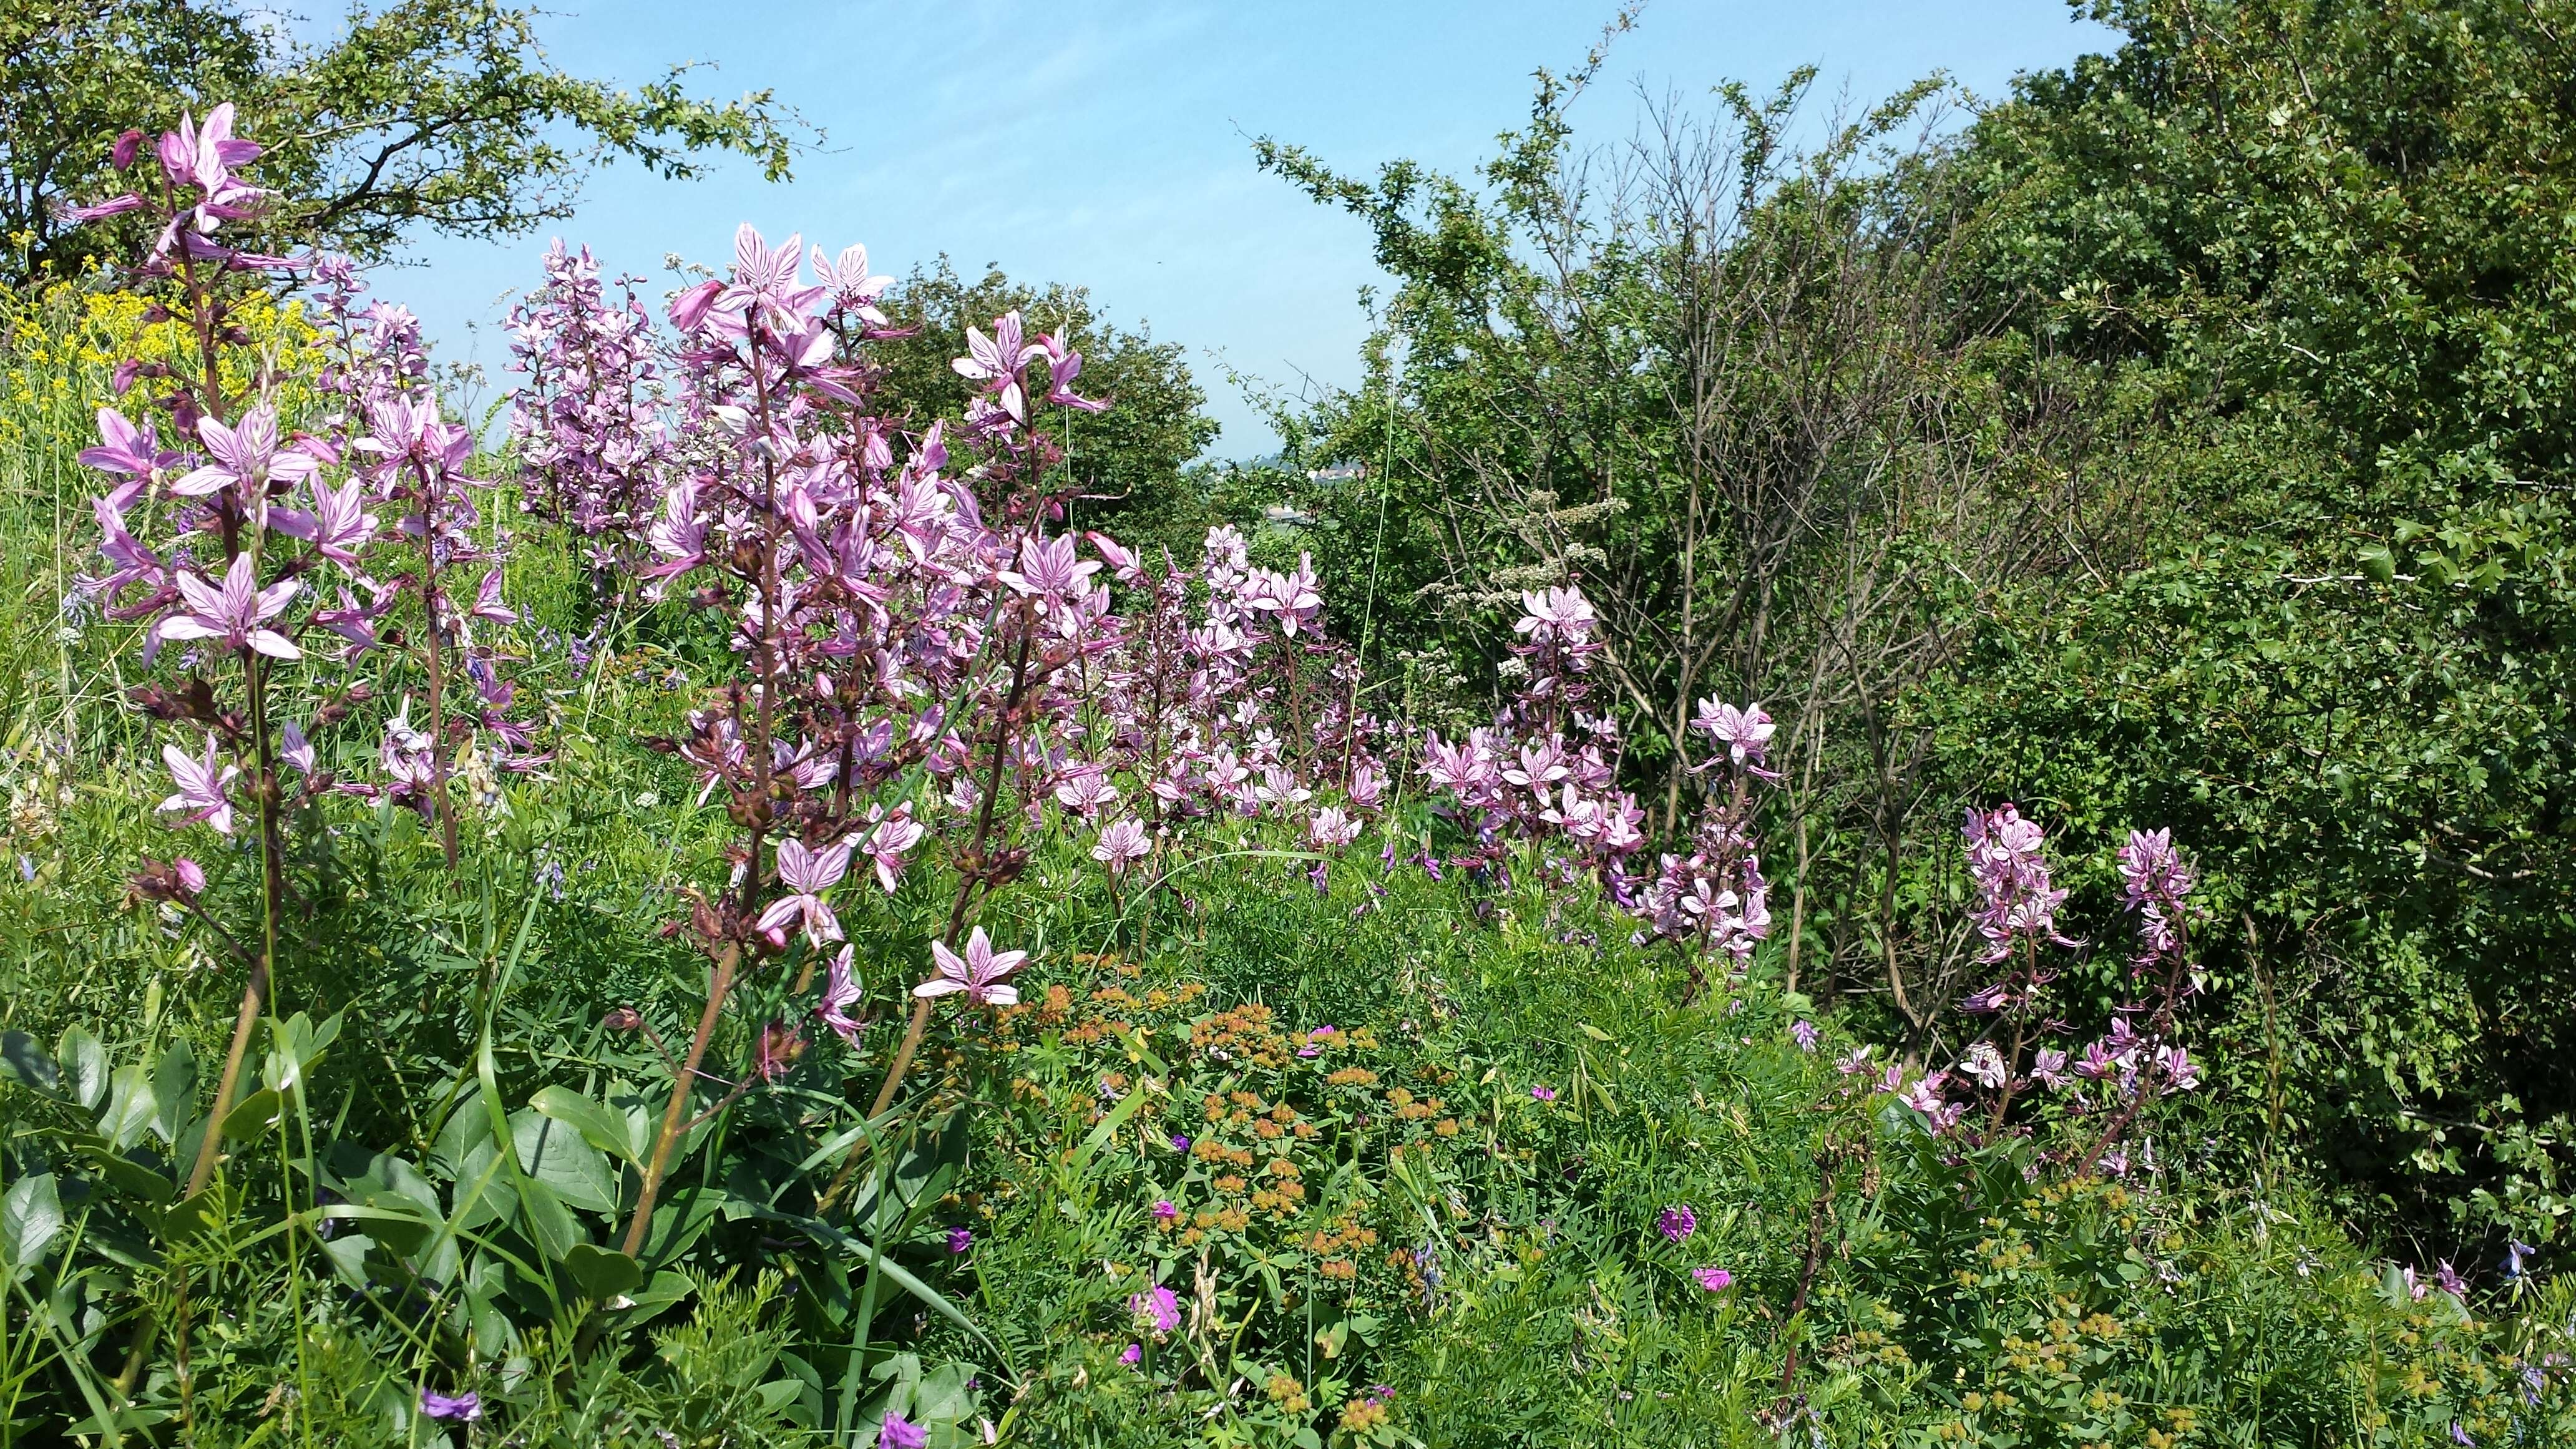
[[[111,480],[108,492],[93,500],[108,572],[82,580],[82,588],[111,616],[144,621],[142,665],[175,676],[134,688],[137,704],[185,740],[162,745],[173,792],[160,810],[173,828],[204,825],[232,835],[237,802],[247,799],[260,859],[260,926],[252,946],[242,949],[242,1006],[188,1173],[191,1194],[214,1176],[216,1124],[232,1109],[278,967],[286,915],[281,820],[327,784],[304,727],[278,719],[278,670],[307,657],[296,639],[314,624],[319,583],[335,572],[363,578],[358,549],[374,523],[363,508],[350,513],[348,492],[322,482],[322,456],[307,438],[281,436],[276,379],[258,374],[247,394],[224,387],[232,309],[260,278],[296,266],[219,240],[224,224],[250,219],[265,204],[265,193],[237,175],[258,155],[255,142],[232,134],[232,106],[209,111],[204,126],[183,116],[149,157],[142,155],[142,131],[126,131],[111,160],[137,188],[72,211],[77,222],[126,211],[160,222],[147,253],[129,266],[129,281],[152,297],[155,317],[185,322],[198,343],[196,369],[121,364],[116,387],[139,402],[142,420],[100,407],[100,441],[80,454]],[[155,874],[155,890],[165,884],[193,905],[201,879],[198,871],[167,882]],[[224,938],[232,941],[229,933]]]

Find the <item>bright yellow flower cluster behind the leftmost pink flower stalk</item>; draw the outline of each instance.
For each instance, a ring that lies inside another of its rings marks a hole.
[[[126,358],[196,376],[204,369],[196,333],[175,317],[147,320],[149,309],[134,291],[72,281],[33,299],[0,291],[0,449],[39,438],[85,446],[90,413],[111,402],[111,376]],[[283,418],[301,415],[327,358],[304,307],[250,297],[232,309],[232,325],[242,335],[219,348],[224,394],[265,389]]]

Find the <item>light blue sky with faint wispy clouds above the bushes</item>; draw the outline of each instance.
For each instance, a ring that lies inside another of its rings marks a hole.
[[[866,242],[878,271],[938,253],[1028,281],[1077,281],[1121,325],[1188,348],[1226,433],[1221,456],[1273,446],[1224,366],[1273,387],[1358,376],[1358,291],[1381,273],[1368,232],[1252,165],[1252,137],[1296,142],[1345,173],[1394,157],[1468,170],[1528,116],[1530,72],[1571,70],[1610,0],[1376,3],[806,3],[556,0],[556,64],[647,80],[696,59],[706,93],[773,88],[827,131],[796,180],[724,165],[667,183],[595,173],[562,227],[505,242],[428,237],[428,263],[379,281],[422,315],[438,356],[505,384],[497,320],[536,278],[551,235],[611,268],[659,276],[665,253],[719,263],[737,222],[773,240]],[[1947,70],[2002,95],[2025,70],[2110,49],[2063,0],[1659,0],[1577,106],[1615,142],[1641,95],[1698,101],[1739,77],[1775,85],[1819,64],[1819,95],[1873,101]]]

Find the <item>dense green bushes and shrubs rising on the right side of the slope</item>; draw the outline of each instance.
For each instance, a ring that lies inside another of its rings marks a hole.
[[[1963,802],[2169,820],[2221,892],[2228,1158],[2442,1256],[2555,1240],[2576,13],[2099,15],[2115,54],[1919,139],[1932,93],[1844,126],[1798,77],[1587,152],[1579,75],[1481,186],[1267,147],[1399,281],[1296,420],[1391,464],[1316,544],[1468,678],[1497,603],[1582,578],[1641,789],[1687,797],[1695,694],[1770,701],[1793,962],[1906,1044],[1984,985]]]

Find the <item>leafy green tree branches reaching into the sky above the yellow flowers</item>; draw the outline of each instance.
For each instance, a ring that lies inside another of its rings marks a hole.
[[[690,95],[688,67],[634,90],[564,75],[536,18],[497,0],[361,0],[307,46],[237,0],[5,5],[0,278],[124,255],[129,237],[67,227],[59,206],[121,191],[108,144],[126,126],[157,131],[219,101],[268,147],[263,186],[291,199],[263,240],[361,260],[417,227],[497,237],[569,217],[582,173],[613,157],[688,178],[729,152],[778,180],[809,134],[768,90]]]

